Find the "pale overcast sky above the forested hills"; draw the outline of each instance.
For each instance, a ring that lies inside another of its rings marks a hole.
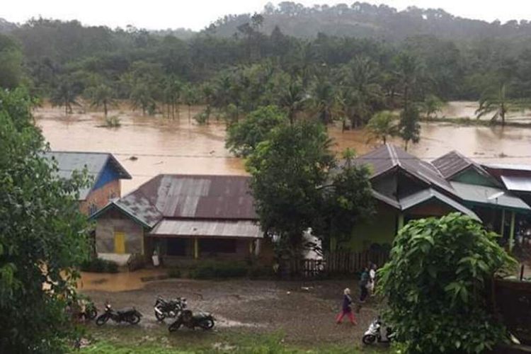
[[[1,6],[2,3],[8,6]],[[276,4],[279,1],[272,1]],[[305,6],[314,4],[352,4],[355,0],[299,0]],[[455,16],[485,21],[496,19],[531,20],[530,0],[365,0],[371,4],[387,4],[402,10],[408,6],[442,8]],[[0,18],[23,23],[42,16],[61,20],[77,19],[85,25],[108,25],[111,28],[135,25],[137,28],[191,28],[200,30],[229,13],[261,11],[268,0],[0,0]]]

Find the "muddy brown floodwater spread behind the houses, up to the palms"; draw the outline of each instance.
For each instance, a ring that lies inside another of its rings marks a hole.
[[[449,114],[447,112],[452,110],[454,116],[461,116],[467,114],[467,110],[475,110],[471,105],[450,103],[450,108],[445,108],[446,113],[443,113]],[[193,109],[192,116],[198,109]],[[113,153],[132,175],[132,180],[122,181],[122,194],[159,173],[246,173],[243,161],[224,148],[225,125],[214,118],[210,125],[197,125],[193,120],[188,121],[186,108],[181,108],[181,118],[175,120],[142,117],[127,110],[113,111],[110,115],[118,115],[122,125],[101,127],[101,113],[76,113],[66,117],[59,108],[35,110],[37,125],[52,149]],[[377,146],[367,144],[364,130],[341,132],[338,127],[330,127],[329,134],[338,152],[350,147],[363,154]],[[403,144],[399,139],[394,143]],[[481,163],[531,164],[531,129],[423,123],[421,142],[411,145],[409,150],[431,160],[452,149]]]

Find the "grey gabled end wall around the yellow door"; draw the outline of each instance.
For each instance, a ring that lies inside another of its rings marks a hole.
[[[108,210],[96,222],[96,252],[115,253],[114,234],[125,234],[125,253],[143,253],[143,228],[117,210]]]

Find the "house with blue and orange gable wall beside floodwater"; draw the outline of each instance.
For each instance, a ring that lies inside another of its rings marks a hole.
[[[59,178],[71,178],[74,171],[86,171],[91,183],[79,190],[81,212],[92,215],[108,204],[109,200],[120,198],[122,179],[131,176],[113,154],[104,152],[45,152],[43,156],[57,166]]]

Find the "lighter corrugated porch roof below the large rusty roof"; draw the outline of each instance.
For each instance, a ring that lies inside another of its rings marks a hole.
[[[172,220],[164,219],[149,233],[150,236],[205,236],[261,239],[263,232],[249,220]]]

